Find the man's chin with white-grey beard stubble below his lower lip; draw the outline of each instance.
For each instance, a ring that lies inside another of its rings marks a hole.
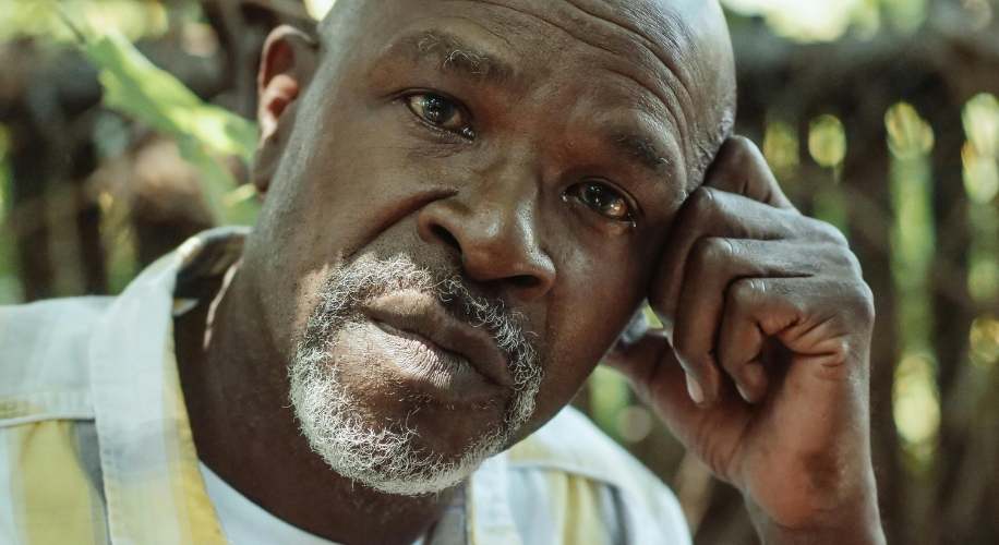
[[[346,332],[346,331],[345,331]],[[394,364],[359,351],[299,351],[291,402],[312,449],[338,474],[374,491],[422,496],[450,488],[504,450],[508,402],[461,402],[414,388]]]

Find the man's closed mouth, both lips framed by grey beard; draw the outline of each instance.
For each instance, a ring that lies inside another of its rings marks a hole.
[[[446,389],[513,386],[510,362],[490,332],[454,317],[431,295],[392,293],[371,301],[364,314]]]

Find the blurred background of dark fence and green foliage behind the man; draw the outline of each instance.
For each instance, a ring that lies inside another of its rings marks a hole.
[[[118,293],[202,229],[251,225],[261,46],[332,3],[0,0],[0,304]],[[890,543],[999,544],[999,1],[723,3],[738,132],[875,293]],[[698,544],[757,542],[619,375],[575,404],[673,486]]]

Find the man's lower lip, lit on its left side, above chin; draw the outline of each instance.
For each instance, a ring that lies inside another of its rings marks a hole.
[[[375,326],[376,347],[404,382],[447,403],[483,403],[502,388],[479,373],[466,358],[442,349],[430,339],[383,322]]]

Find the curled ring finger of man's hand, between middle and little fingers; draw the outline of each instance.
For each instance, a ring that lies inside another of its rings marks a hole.
[[[815,263],[803,257],[793,242],[710,238],[696,243],[684,274],[673,332],[676,356],[687,370],[689,380],[695,383],[690,389],[696,401],[711,404],[722,395],[722,371],[735,379],[739,391],[744,386],[748,388],[746,391],[765,388],[762,370],[745,368],[745,365],[729,368],[719,361],[723,349],[719,344],[719,330],[730,286],[746,278],[787,278],[814,272]]]

